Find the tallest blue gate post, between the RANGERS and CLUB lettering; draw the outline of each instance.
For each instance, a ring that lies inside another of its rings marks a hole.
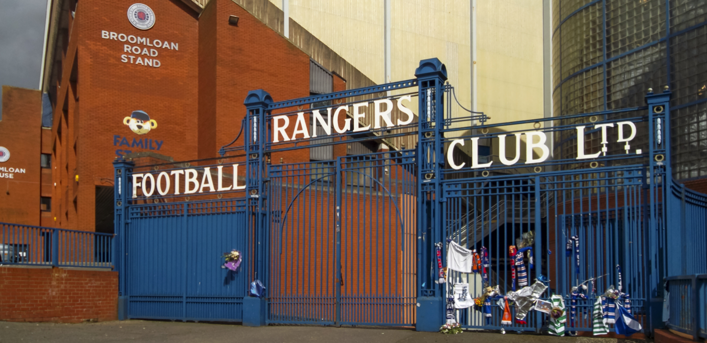
[[[416,330],[435,332],[445,323],[445,288],[438,284],[435,243],[446,244],[441,218],[444,166],[442,128],[444,81],[447,68],[439,59],[423,59],[415,70],[419,89],[417,145],[418,259]],[[443,249],[443,259],[445,251]],[[428,268],[433,265],[433,272]]]

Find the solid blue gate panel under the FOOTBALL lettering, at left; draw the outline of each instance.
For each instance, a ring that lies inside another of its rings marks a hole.
[[[221,254],[232,249],[246,256],[245,264],[252,263],[243,192],[217,197],[194,190],[184,196],[169,180],[191,171],[199,180],[216,179],[211,169],[223,174],[223,161],[200,161],[199,172],[189,162],[144,167],[115,162],[117,176],[125,175],[121,180],[140,183],[135,191],[126,187],[116,193],[117,208],[124,207],[124,212],[116,212],[123,225],[120,253],[114,259],[121,271],[120,318],[242,320],[247,268],[233,272],[220,266]],[[238,179],[234,174],[226,177],[229,185]],[[188,187],[186,177],[179,181]],[[157,192],[160,198],[148,195]]]

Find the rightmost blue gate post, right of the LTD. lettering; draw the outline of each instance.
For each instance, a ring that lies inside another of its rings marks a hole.
[[[666,223],[679,220],[679,213],[673,213],[670,201],[672,172],[670,168],[670,96],[667,88],[661,94],[648,92],[648,179],[649,206],[648,230],[650,270],[648,292],[650,318],[647,331],[662,327],[663,289],[662,279],[668,276],[667,254],[680,251],[679,234],[667,232]],[[676,217],[677,216],[677,217]],[[676,237],[677,236],[677,237]],[[671,257],[672,259],[672,257]]]

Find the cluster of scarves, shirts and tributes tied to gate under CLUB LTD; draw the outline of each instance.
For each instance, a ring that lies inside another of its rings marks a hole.
[[[441,244],[436,244],[439,249],[442,247]],[[579,261],[579,238],[578,236],[572,236],[568,239],[567,243],[568,257],[574,257],[575,261]],[[510,306],[515,308],[515,324],[516,325],[527,325],[526,317],[527,314],[532,310],[536,310],[540,313],[549,315],[548,330],[551,335],[563,336],[565,332],[568,335],[575,336],[577,332],[574,329],[578,326],[578,301],[583,301],[588,299],[586,293],[595,293],[596,280],[600,279],[606,275],[601,275],[599,277],[592,277],[577,284],[577,286],[572,287],[570,294],[568,294],[568,299],[565,299],[559,294],[551,294],[549,297],[550,301],[543,300],[544,291],[548,289],[548,284],[550,280],[544,275],[538,275],[535,282],[527,286],[527,270],[525,270],[525,261],[523,257],[527,252],[529,258],[529,267],[532,269],[534,267],[534,260],[532,255],[532,247],[526,246],[525,248],[517,249],[515,246],[510,246],[508,248],[509,256],[513,258],[511,269],[514,274],[511,275],[513,279],[513,291],[508,291],[505,295],[501,292],[498,285],[490,287],[486,284],[488,280],[487,270],[491,270],[490,260],[488,256],[488,251],[486,247],[481,247],[481,272],[482,280],[484,282],[484,292],[481,296],[471,299],[469,296],[469,283],[467,282],[457,282],[453,285],[448,282],[447,287],[448,292],[453,296],[450,296],[447,301],[446,306],[446,319],[447,323],[457,323],[457,318],[459,318],[459,313],[457,310],[469,308],[474,306],[477,311],[481,312],[483,318],[485,318],[486,325],[491,325],[491,319],[493,317],[493,300],[498,299],[496,304],[501,308],[502,318],[501,318],[501,333],[505,333],[504,326],[508,327],[514,325],[512,320],[512,311]],[[575,254],[572,254],[572,253]],[[438,250],[438,263],[441,263],[439,258]],[[474,251],[464,248],[457,244],[455,241],[449,241],[448,251],[447,251],[447,265],[451,271],[460,272],[464,274],[471,274],[477,268],[474,268],[479,258],[474,253]],[[572,264],[578,268],[579,263]],[[572,266],[571,265],[571,266]],[[574,269],[571,267],[571,269]],[[440,267],[440,270],[442,268]],[[579,270],[579,269],[577,269]],[[617,332],[626,332],[624,335],[631,335],[633,332],[641,330],[641,325],[638,321],[631,315],[631,301],[629,300],[629,294],[625,294],[621,291],[623,287],[623,277],[621,275],[621,266],[616,266],[617,270],[617,280],[619,287],[614,289],[610,286],[607,291],[602,294],[602,296],[597,296],[597,300],[594,302],[593,308],[588,311],[590,313],[592,332],[594,335],[605,335],[609,332],[608,324],[614,324],[614,328]],[[441,276],[441,275],[440,275]],[[447,274],[445,277],[449,277]],[[515,278],[518,278],[518,286],[522,287],[520,290],[515,291]],[[467,278],[468,279],[468,278]],[[440,281],[441,283],[442,281]],[[592,288],[587,286],[587,284],[592,284]],[[570,302],[569,306],[569,321],[568,311],[566,311],[566,301]],[[586,315],[587,311],[583,311]],[[569,324],[569,325],[567,325]],[[568,326],[568,331],[566,331],[566,326]]]

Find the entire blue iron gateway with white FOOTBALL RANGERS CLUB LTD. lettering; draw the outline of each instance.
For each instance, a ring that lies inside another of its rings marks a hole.
[[[251,91],[220,159],[116,161],[121,318],[437,331],[455,284],[477,297],[537,278],[549,287],[540,299],[576,306],[569,331],[591,330],[612,288],[644,328],[660,324],[667,223],[683,222],[669,192],[670,92],[648,93],[647,107],[496,124],[452,116],[437,59],[415,76],[283,102]],[[372,140],[380,151],[346,154]],[[334,160],[309,160],[323,146]],[[445,275],[452,241],[481,253],[478,273]],[[231,249],[243,255],[235,272],[221,268]],[[262,298],[248,291],[256,280]],[[488,309],[450,315],[474,329],[547,325],[537,311],[501,325],[501,308]]]

